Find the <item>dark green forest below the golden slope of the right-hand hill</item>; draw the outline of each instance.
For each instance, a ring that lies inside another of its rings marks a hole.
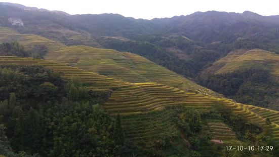
[[[279,84],[270,71],[262,67],[236,70],[224,74],[202,74],[200,83],[238,102],[278,110]]]

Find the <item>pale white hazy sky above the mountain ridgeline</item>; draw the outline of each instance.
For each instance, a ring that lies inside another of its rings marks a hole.
[[[279,15],[279,1],[250,0],[6,0],[28,7],[59,10],[69,14],[117,13],[126,17],[152,19],[188,15],[196,11],[225,11],[242,13],[252,11],[261,15]]]

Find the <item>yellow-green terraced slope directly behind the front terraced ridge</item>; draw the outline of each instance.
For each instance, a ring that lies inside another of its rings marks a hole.
[[[131,83],[156,82],[188,92],[221,96],[148,59],[127,52],[88,46],[63,47],[45,59],[104,74]]]

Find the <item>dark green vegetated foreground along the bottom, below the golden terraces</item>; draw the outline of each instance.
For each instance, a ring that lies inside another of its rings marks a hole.
[[[48,68],[32,65],[2,65],[0,77],[0,151],[5,156],[219,156],[228,152],[210,142],[218,134],[207,128],[217,120],[236,133],[237,141],[226,143],[273,142],[271,131],[228,108],[201,104],[192,109],[188,104],[112,117],[102,109],[109,94],[86,90],[75,77],[66,82]]]

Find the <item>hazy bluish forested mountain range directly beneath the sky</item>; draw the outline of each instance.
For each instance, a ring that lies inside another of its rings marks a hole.
[[[190,77],[233,50],[279,53],[279,16],[249,11],[195,12],[152,20],[119,14],[69,15],[10,3],[0,3],[0,11],[0,26],[66,45],[129,51]],[[10,17],[22,19],[24,27],[12,26]]]

